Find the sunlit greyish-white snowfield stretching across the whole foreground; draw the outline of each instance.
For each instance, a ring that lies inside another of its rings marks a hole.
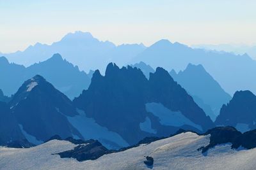
[[[84,162],[52,155],[76,146],[68,141],[52,140],[22,149],[1,147],[0,169],[255,169],[256,149],[232,150],[226,144],[199,152],[198,148],[209,144],[209,137],[186,132]],[[154,158],[153,167],[143,163],[145,156]]]

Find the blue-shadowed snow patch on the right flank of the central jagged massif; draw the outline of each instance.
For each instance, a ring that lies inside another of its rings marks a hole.
[[[146,103],[145,106],[148,112],[153,113],[160,119],[160,123],[162,125],[171,125],[174,127],[191,125],[202,131],[202,127],[200,125],[191,122],[191,120],[182,115],[180,111],[171,111],[161,103]]]

